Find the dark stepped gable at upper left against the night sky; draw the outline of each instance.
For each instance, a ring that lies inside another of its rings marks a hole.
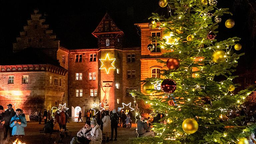
[[[52,30],[48,30],[49,25],[43,24],[45,19],[41,19],[41,14],[38,10],[34,10],[31,14],[31,20],[27,20],[27,26],[24,26],[24,31],[20,32],[20,37],[16,38],[16,43],[13,43],[13,52],[24,50],[28,47],[50,49],[57,51],[59,41],[55,40]]]

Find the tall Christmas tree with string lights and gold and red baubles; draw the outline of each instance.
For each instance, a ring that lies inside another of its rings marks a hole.
[[[138,100],[151,105],[151,115],[161,113],[153,123],[155,137],[138,137],[140,144],[246,144],[254,125],[247,126],[244,116],[232,116],[241,109],[246,97],[255,90],[234,92],[232,80],[237,60],[243,54],[238,37],[221,40],[218,25],[223,15],[232,15],[227,8],[218,8],[216,0],[160,0],[169,7],[170,16],[152,13],[150,29],[162,29],[162,37],[151,37],[160,43],[148,49],[161,48],[169,58],[168,70],[161,78],[144,80],[143,92],[131,91],[135,100],[136,119],[140,118]],[[234,20],[222,21],[227,28]],[[217,36],[217,37],[216,37]],[[216,38],[216,39],[215,39]],[[154,87],[161,84],[161,90]],[[160,123],[161,122],[161,123]],[[244,125],[244,126],[242,126]]]

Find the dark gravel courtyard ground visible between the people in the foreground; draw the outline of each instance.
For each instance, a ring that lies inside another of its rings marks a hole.
[[[74,117],[70,117],[68,119],[70,123],[67,123],[67,129],[72,133],[69,141],[68,141],[68,138],[64,139],[65,143],[69,144],[70,140],[74,136],[76,136],[77,132],[84,126],[85,119],[86,119],[85,117],[82,118],[83,123],[82,122],[77,123],[77,118],[74,118]],[[44,121],[42,121],[42,124],[38,124],[38,122],[35,122],[33,120],[31,122],[27,122],[27,127],[25,127],[25,138],[24,138],[24,142],[26,144],[47,144],[46,141],[41,140],[41,136],[39,133],[39,130],[42,130],[44,127],[43,123]],[[129,142],[127,142],[127,140],[135,138],[135,133],[134,133],[135,128],[136,128],[135,124],[132,124],[132,128],[130,129],[119,127],[117,129],[117,132],[118,132],[117,141],[108,142],[108,143],[109,144],[112,144],[112,143],[113,144],[130,144]],[[12,142],[8,140],[4,144],[12,144]]]

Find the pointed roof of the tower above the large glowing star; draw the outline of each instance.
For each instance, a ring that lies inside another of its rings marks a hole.
[[[103,19],[101,20],[100,24],[97,26],[97,28],[92,33],[95,37],[98,37],[98,35],[102,34],[121,34],[124,35],[123,31],[121,31],[114,21],[111,19],[111,17],[108,15],[108,13],[105,14]]]

